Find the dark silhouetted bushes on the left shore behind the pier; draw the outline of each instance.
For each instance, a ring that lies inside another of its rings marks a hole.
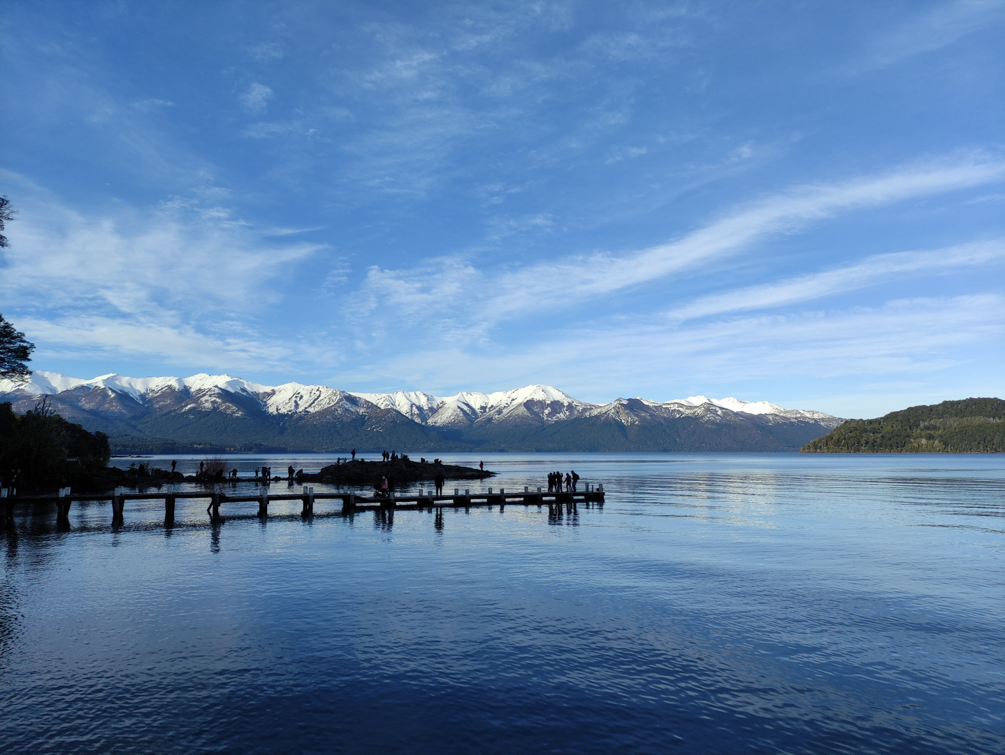
[[[19,469],[23,490],[79,483],[99,474],[110,457],[108,435],[67,422],[45,400],[24,414],[0,404],[0,475]]]

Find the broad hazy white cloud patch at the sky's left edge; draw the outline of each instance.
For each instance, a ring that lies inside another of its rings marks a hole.
[[[23,313],[19,322],[36,338],[70,350],[201,356],[200,364],[215,353],[213,364],[224,367],[227,354],[281,353],[240,323],[274,304],[281,295],[272,279],[321,245],[268,242],[229,209],[197,199],[85,217],[29,186],[22,183],[16,243],[4,252],[0,300]],[[33,314],[39,303],[44,318]]]

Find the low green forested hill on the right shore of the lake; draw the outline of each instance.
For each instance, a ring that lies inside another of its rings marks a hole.
[[[1003,453],[1005,401],[966,398],[849,419],[803,453]]]

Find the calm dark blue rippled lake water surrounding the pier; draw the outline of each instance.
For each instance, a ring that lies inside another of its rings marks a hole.
[[[1001,455],[479,459],[606,505],[19,509],[0,752],[1005,752]]]

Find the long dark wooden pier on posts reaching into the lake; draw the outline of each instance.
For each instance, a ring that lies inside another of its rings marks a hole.
[[[105,502],[112,503],[112,524],[122,525],[126,516],[126,504],[130,501],[164,501],[164,525],[171,527],[175,523],[175,505],[178,499],[201,499],[208,502],[207,512],[211,523],[222,521],[220,509],[226,505],[230,509],[231,505],[237,504],[257,504],[258,517],[268,518],[268,505],[279,501],[299,501],[303,505],[301,514],[305,517],[313,516],[316,504],[327,507],[328,504],[335,504],[334,511],[329,513],[352,516],[359,512],[386,511],[389,509],[402,511],[423,511],[428,509],[472,509],[499,507],[502,511],[507,506],[537,506],[542,508],[548,506],[550,513],[561,513],[575,511],[579,504],[591,506],[597,504],[604,505],[604,487],[594,488],[585,485],[586,490],[570,491],[566,493],[543,493],[539,488],[537,492],[525,488],[523,493],[507,493],[500,488],[497,493],[492,493],[489,488],[487,493],[471,493],[469,489],[463,492],[459,488],[454,489],[452,496],[435,496],[433,491],[420,490],[419,495],[395,496],[391,494],[387,498],[373,498],[358,496],[355,493],[315,493],[314,488],[305,486],[301,493],[269,495],[268,489],[262,488],[254,494],[234,494],[228,495],[220,492],[219,489],[213,491],[178,491],[173,486],[165,486],[169,490],[157,493],[127,493],[125,489],[117,489],[111,496],[109,494],[94,496],[72,495],[68,488],[59,491],[55,496],[16,496],[0,498],[0,505],[3,506],[4,518],[11,520],[14,517],[14,508],[18,505],[55,504],[56,520],[60,524],[69,524],[70,505],[74,502]]]

